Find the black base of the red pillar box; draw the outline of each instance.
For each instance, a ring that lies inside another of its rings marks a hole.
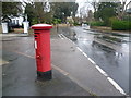
[[[51,70],[47,72],[37,71],[37,79],[38,81],[49,81],[52,78]]]

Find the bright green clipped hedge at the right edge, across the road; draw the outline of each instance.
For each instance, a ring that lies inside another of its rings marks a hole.
[[[111,22],[114,30],[131,30],[131,22],[115,20]]]

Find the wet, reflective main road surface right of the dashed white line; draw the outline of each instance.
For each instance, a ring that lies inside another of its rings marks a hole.
[[[98,33],[82,27],[61,28],[60,33],[72,39],[129,94],[129,34]]]

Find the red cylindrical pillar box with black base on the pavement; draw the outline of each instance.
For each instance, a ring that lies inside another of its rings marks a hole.
[[[48,24],[36,24],[32,26],[35,37],[37,79],[51,79],[50,66],[50,28]]]

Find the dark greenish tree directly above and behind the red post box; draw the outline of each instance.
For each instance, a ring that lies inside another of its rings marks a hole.
[[[36,0],[23,0],[23,7],[25,8],[25,14],[28,14],[31,21],[37,23],[46,23],[51,21],[51,12],[49,11],[49,2]]]

